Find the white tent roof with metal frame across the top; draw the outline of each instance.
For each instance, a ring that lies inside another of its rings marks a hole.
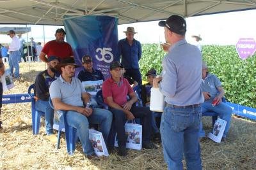
[[[84,15],[117,17],[119,24],[127,24],[251,9],[256,9],[255,0],[0,0],[0,24],[63,25]]]

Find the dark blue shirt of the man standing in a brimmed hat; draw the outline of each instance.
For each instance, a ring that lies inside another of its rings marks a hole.
[[[125,69],[139,69],[139,60],[141,58],[140,41],[133,39],[132,45],[129,45],[127,39],[118,41],[118,50],[116,60],[120,61],[122,55],[122,64]]]

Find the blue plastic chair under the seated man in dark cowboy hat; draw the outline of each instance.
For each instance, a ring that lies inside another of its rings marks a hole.
[[[54,109],[54,106],[51,101],[51,97],[49,97],[49,104],[52,109]],[[66,144],[67,144],[67,152],[69,155],[72,155],[76,149],[76,128],[68,125],[67,123],[67,111],[58,110],[58,114],[61,114],[60,117],[60,124],[58,129],[58,143],[57,148],[60,148],[60,137],[61,137],[61,131],[64,128],[65,129],[65,138],[66,138]]]

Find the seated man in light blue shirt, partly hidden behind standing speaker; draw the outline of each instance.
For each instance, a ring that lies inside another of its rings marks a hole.
[[[208,67],[203,61],[202,64],[202,91],[204,94],[204,103],[202,104],[202,113],[205,111],[214,111],[218,113],[218,116],[227,121],[225,131],[221,141],[225,141],[228,134],[228,129],[230,126],[232,108],[221,101],[225,92],[221,86],[221,82],[217,76],[208,72]],[[212,101],[217,99],[216,106],[212,106]],[[200,129],[202,130],[202,128]]]

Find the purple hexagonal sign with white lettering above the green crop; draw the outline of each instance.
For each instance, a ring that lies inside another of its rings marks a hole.
[[[247,59],[255,53],[256,42],[253,38],[240,38],[236,44],[236,50],[241,59]]]

